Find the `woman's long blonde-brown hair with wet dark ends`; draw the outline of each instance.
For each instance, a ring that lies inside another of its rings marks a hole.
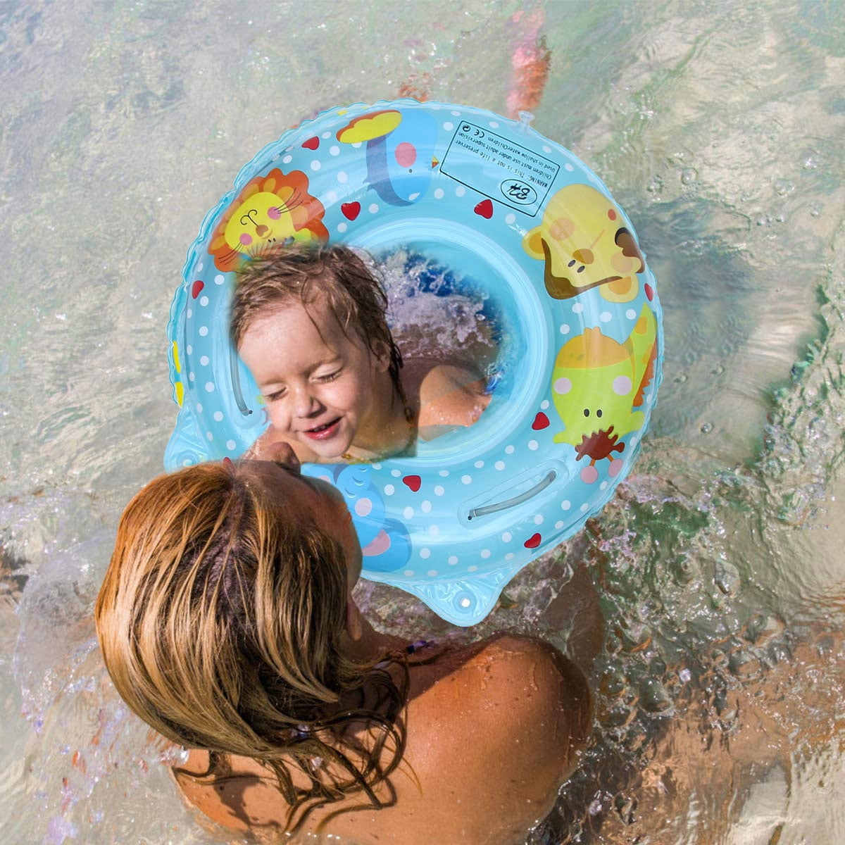
[[[191,466],[155,478],[124,511],[97,634],[139,717],[210,750],[203,777],[226,776],[222,755],[259,760],[295,829],[357,790],[381,806],[373,788],[392,792],[404,750],[407,673],[399,689],[384,666],[344,656],[347,589],[340,542],[286,518],[259,477],[231,461]],[[353,736],[353,723],[368,729]]]

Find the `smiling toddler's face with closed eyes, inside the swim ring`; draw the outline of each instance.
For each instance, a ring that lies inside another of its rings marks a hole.
[[[325,459],[348,451],[375,416],[379,373],[389,366],[357,336],[347,337],[322,300],[308,311],[285,303],[259,315],[238,352],[275,430]]]

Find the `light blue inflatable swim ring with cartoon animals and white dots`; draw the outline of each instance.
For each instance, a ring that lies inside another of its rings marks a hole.
[[[286,132],[206,215],[168,324],[172,470],[237,457],[267,425],[227,333],[235,271],[265,243],[404,248],[482,281],[509,340],[478,423],[411,457],[303,467],[346,497],[363,575],[460,625],[610,499],[662,378],[662,312],[634,227],[529,119],[400,100]]]

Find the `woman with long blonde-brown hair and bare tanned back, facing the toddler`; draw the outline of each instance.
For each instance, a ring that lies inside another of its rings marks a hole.
[[[276,449],[150,482],[97,599],[118,692],[190,750],[178,788],[268,841],[523,842],[585,744],[584,674],[518,636],[446,648],[373,630],[340,494]]]

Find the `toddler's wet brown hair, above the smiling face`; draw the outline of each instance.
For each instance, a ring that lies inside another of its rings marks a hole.
[[[363,260],[341,244],[292,243],[244,264],[232,297],[232,343],[237,349],[254,320],[273,308],[293,302],[308,310],[321,297],[347,337],[362,341],[373,355],[389,355],[390,378],[404,399],[387,297]]]

